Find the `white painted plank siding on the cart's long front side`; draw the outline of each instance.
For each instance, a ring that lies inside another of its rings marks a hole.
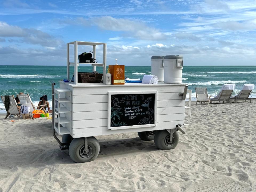
[[[179,97],[185,85],[69,87],[72,89],[72,137],[89,137],[148,130],[172,129],[184,123],[185,101]],[[108,92],[157,91],[157,126],[107,130]]]

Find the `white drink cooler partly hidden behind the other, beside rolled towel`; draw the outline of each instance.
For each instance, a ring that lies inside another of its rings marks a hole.
[[[164,75],[164,56],[152,56],[151,57],[151,75],[155,75],[158,81],[163,82]]]

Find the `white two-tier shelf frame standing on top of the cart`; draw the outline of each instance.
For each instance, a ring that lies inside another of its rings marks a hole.
[[[69,55],[70,55],[70,51],[69,51],[69,45],[74,45],[74,62],[70,62],[69,61]],[[89,45],[89,46],[93,46],[93,58],[96,59],[96,46],[97,45],[103,45],[103,63],[79,63],[77,61],[78,59],[78,45]],[[85,64],[85,65],[91,65],[93,66],[93,71],[96,70],[96,66],[101,66],[103,67],[103,83],[105,83],[105,75],[106,75],[106,66],[107,66],[107,43],[97,43],[97,42],[85,42],[85,41],[73,41],[70,43],[67,43],[67,79],[70,80],[70,76],[69,76],[69,67],[70,66],[74,66],[74,84],[78,84],[77,82],[77,72],[78,69],[77,67],[81,64]]]

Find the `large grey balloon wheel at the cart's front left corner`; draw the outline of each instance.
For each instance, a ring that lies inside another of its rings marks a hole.
[[[95,137],[88,137],[88,153],[85,153],[85,139],[74,138],[69,146],[69,156],[76,163],[93,161],[99,154],[99,142]]]

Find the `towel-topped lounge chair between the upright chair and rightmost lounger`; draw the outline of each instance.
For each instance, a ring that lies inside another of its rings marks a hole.
[[[222,85],[221,91],[217,96],[210,99],[210,102],[219,101],[219,102],[230,102],[234,101],[233,97],[231,97],[231,94],[233,93],[235,89],[235,84],[224,84]]]

